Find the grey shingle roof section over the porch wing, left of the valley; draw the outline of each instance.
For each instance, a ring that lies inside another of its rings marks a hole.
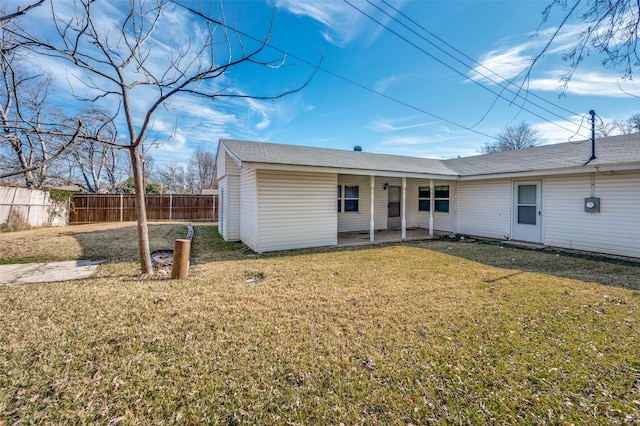
[[[242,162],[456,176],[442,161],[265,142],[220,141]]]

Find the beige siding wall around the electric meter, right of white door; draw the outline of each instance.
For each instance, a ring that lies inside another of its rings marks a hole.
[[[543,243],[562,248],[640,257],[640,173],[596,174],[600,213],[586,213],[591,175],[543,182]]]

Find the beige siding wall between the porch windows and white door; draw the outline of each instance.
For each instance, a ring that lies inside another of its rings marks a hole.
[[[460,181],[456,192],[457,233],[510,237],[511,180]]]

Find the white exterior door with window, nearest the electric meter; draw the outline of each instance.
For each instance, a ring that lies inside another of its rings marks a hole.
[[[542,182],[513,184],[512,239],[542,242]]]

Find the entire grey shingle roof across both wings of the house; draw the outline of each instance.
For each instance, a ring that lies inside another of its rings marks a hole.
[[[372,154],[265,142],[220,141],[240,161],[387,172],[480,176],[551,171],[583,166],[591,157],[591,141],[544,145],[515,151],[450,160]],[[640,133],[596,140],[596,159],[589,166],[640,163]],[[640,168],[640,164],[639,164]]]

